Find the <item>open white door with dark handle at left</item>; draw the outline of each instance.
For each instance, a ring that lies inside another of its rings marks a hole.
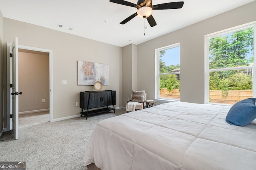
[[[19,138],[19,93],[18,90],[18,38],[15,37],[13,43],[12,43],[12,59],[11,59],[11,87],[12,87],[12,93],[11,95],[11,117],[12,117],[12,131],[14,134],[15,139]]]

